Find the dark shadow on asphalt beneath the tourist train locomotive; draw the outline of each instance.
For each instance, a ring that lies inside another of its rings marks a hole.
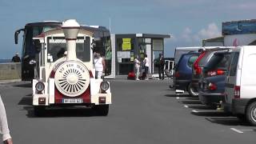
[[[26,116],[28,118],[65,118],[65,117],[95,117],[102,116],[96,111],[90,108],[62,108],[62,109],[46,109],[40,116],[34,115],[33,106],[24,106],[24,110],[27,111]]]

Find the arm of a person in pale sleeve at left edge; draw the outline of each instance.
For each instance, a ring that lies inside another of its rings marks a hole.
[[[8,128],[7,118],[6,118],[6,109],[2,102],[0,95],[0,133],[2,134],[2,141],[5,144],[12,144],[12,138],[10,137],[10,130]]]

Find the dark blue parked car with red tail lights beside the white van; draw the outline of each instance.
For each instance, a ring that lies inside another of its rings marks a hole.
[[[206,66],[203,66],[202,77],[198,82],[198,97],[202,104],[210,106],[220,105],[225,99],[226,71],[232,58],[228,50],[213,53]]]

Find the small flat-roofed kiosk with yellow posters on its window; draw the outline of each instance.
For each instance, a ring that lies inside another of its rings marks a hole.
[[[158,73],[154,59],[160,53],[164,54],[164,39],[167,34],[111,34],[112,50],[114,51],[112,66],[115,75],[126,75],[134,70],[134,56],[141,60],[147,54],[150,60],[150,74]],[[113,74],[113,73],[112,73]]]

